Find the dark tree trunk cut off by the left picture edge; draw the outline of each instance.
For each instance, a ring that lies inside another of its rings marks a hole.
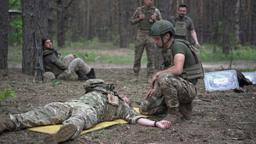
[[[1,1],[0,6],[0,69],[8,70],[8,27],[9,27],[9,0]]]

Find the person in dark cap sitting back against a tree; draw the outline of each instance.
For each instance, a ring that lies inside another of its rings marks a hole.
[[[44,68],[55,75],[57,79],[67,79],[76,72],[78,80],[95,78],[93,68],[90,68],[82,59],[76,58],[76,54],[69,54],[60,59],[60,54],[52,46],[49,38],[42,38]]]

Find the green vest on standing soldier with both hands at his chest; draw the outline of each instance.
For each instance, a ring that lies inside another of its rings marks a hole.
[[[145,11],[145,9],[145,6],[142,6],[142,13],[145,15],[145,18],[139,21],[139,28],[141,30],[149,30],[154,24],[154,20],[152,21],[151,16],[154,14],[155,7],[151,7],[149,11]]]

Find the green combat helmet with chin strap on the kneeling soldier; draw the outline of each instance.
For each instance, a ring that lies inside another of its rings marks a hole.
[[[167,32],[171,32],[172,36],[174,36],[176,34],[175,28],[172,25],[172,23],[169,21],[166,21],[166,20],[161,20],[161,21],[155,22],[149,29],[150,36],[158,36],[158,35],[161,36],[161,40],[162,40],[163,44],[159,48],[163,48],[165,46],[165,44],[171,40],[172,37],[170,37],[168,39],[168,41],[166,43],[164,43],[164,39],[162,38],[162,35]]]

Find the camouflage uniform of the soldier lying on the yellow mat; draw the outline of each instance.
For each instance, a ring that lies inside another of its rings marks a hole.
[[[80,98],[49,103],[44,107],[36,107],[27,113],[10,117],[16,125],[16,130],[52,124],[63,124],[63,127],[73,123],[77,126],[77,131],[72,137],[75,138],[83,129],[91,128],[100,122],[121,118],[136,124],[136,120],[142,116],[120,99],[119,106],[113,106],[108,103],[106,94],[90,91]]]

